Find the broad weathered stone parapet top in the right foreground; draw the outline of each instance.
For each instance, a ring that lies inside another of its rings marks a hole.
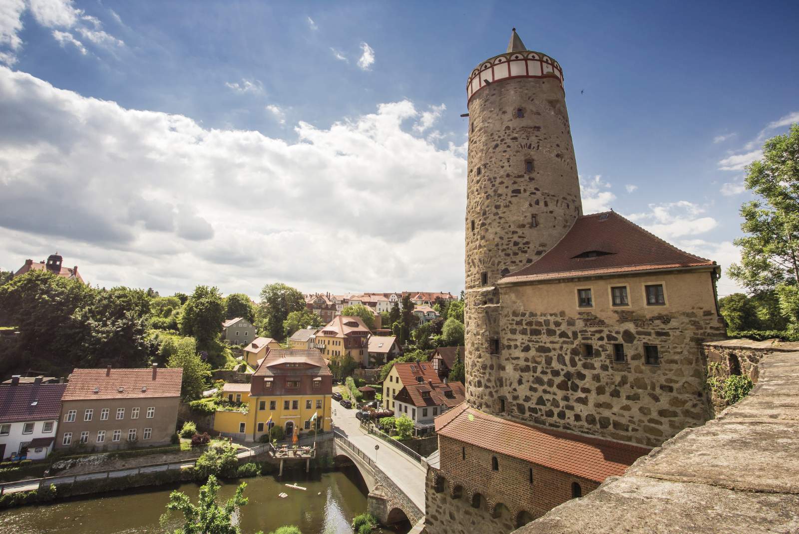
[[[747,398],[515,534],[799,532],[799,343],[706,344],[730,347],[759,360]]]

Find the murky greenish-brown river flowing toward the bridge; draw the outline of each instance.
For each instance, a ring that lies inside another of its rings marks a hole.
[[[354,468],[350,468],[354,469]],[[243,534],[259,530],[268,534],[284,524],[296,524],[303,534],[352,534],[352,518],[366,511],[366,491],[357,474],[346,471],[304,473],[276,477],[244,479],[244,496],[249,503],[240,509]],[[233,496],[240,481],[228,481],[218,499]],[[287,488],[296,484],[306,488]],[[111,492],[104,496],[75,497],[54,504],[23,506],[0,512],[0,532],[13,534],[154,534],[173,532],[182,524],[183,515],[173,513],[161,527],[159,517],[166,511],[169,493],[185,492],[194,504],[200,485],[164,485],[153,489]],[[281,499],[280,492],[288,493]],[[393,532],[393,531],[380,531]],[[403,530],[403,532],[407,532]]]

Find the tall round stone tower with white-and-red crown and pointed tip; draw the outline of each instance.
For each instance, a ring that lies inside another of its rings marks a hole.
[[[507,52],[472,70],[466,86],[466,398],[502,411],[495,282],[538,259],[582,215],[563,74],[527,50],[514,28]]]

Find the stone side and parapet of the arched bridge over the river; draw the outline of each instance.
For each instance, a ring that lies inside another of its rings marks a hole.
[[[352,441],[349,441],[347,437],[337,431],[334,436],[335,456],[347,457],[364,477],[364,482],[369,489],[369,513],[376,516],[380,523],[386,525],[395,524],[407,518],[411,525],[415,525],[411,532],[420,532],[420,528],[424,524],[424,511],[411,500],[407,492],[400,488],[400,485],[397,485],[383,469],[380,469],[380,466],[376,465],[371,457]]]

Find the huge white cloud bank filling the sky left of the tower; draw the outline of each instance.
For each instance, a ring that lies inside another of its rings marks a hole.
[[[58,246],[91,283],[162,294],[459,291],[466,147],[419,137],[420,116],[393,102],[329,128],[300,121],[288,142],[0,67],[0,258],[18,268]],[[341,216],[309,204],[320,192]],[[419,208],[431,198],[438,209]]]

